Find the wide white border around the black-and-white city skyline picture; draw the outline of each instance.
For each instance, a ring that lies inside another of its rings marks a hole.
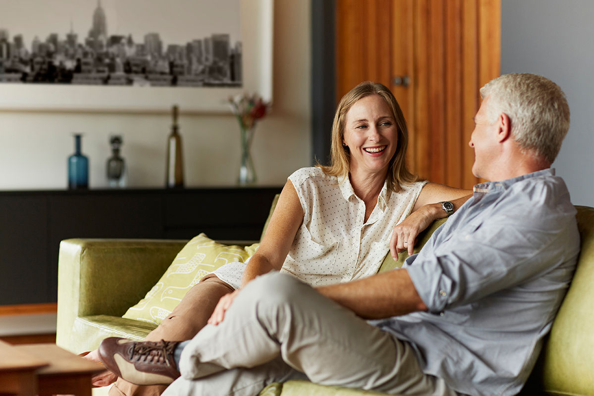
[[[273,0],[241,0],[243,86],[135,87],[59,84],[0,84],[0,111],[168,113],[229,113],[228,99],[257,93],[272,100]]]

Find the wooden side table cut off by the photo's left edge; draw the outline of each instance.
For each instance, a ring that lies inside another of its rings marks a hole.
[[[0,394],[36,395],[36,372],[48,365],[45,359],[0,341]]]

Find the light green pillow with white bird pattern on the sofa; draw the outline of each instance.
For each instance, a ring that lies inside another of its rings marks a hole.
[[[244,262],[254,254],[258,245],[259,243],[254,243],[245,248],[226,246],[204,234],[195,236],[179,251],[149,293],[122,317],[160,324],[204,275],[228,262]]]

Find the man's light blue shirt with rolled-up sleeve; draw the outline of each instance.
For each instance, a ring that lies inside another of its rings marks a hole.
[[[570,283],[576,210],[553,169],[482,183],[406,268],[428,312],[372,321],[469,395],[522,389]]]

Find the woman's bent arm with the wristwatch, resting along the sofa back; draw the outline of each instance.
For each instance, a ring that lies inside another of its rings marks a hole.
[[[415,202],[413,212],[394,227],[390,238],[392,257],[398,259],[398,254],[402,251],[408,251],[408,254],[412,255],[419,233],[429,227],[434,220],[447,217],[440,202],[450,201],[454,205],[455,212],[470,197],[472,197],[472,190],[453,188],[440,183],[427,183]]]

